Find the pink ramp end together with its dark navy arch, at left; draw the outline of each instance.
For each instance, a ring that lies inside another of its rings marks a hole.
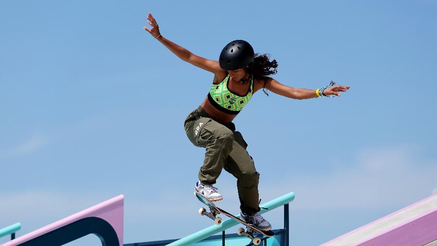
[[[124,196],[119,195],[46,227],[17,237],[2,246],[60,246],[97,235],[105,246],[123,246]]]

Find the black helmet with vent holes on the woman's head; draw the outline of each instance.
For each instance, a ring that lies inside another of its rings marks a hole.
[[[223,48],[218,62],[223,70],[237,70],[245,68],[253,62],[255,53],[252,46],[244,40],[235,40]]]

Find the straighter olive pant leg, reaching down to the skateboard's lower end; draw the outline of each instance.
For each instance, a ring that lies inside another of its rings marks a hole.
[[[240,209],[246,214],[254,214],[259,209],[259,173],[253,158],[247,152],[247,143],[241,133],[234,132],[233,148],[225,160],[224,169],[237,178]]]

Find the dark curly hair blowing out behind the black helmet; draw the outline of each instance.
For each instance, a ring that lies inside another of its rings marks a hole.
[[[255,59],[253,63],[249,64],[246,70],[249,74],[253,74],[254,79],[258,81],[262,81],[264,83],[263,91],[264,93],[266,93],[266,95],[269,96],[269,94],[266,92],[266,85],[267,85],[266,76],[269,76],[270,74],[276,74],[278,72],[276,70],[277,67],[278,67],[278,63],[274,59],[273,61],[270,61],[269,54],[260,55],[259,53],[255,53]]]

